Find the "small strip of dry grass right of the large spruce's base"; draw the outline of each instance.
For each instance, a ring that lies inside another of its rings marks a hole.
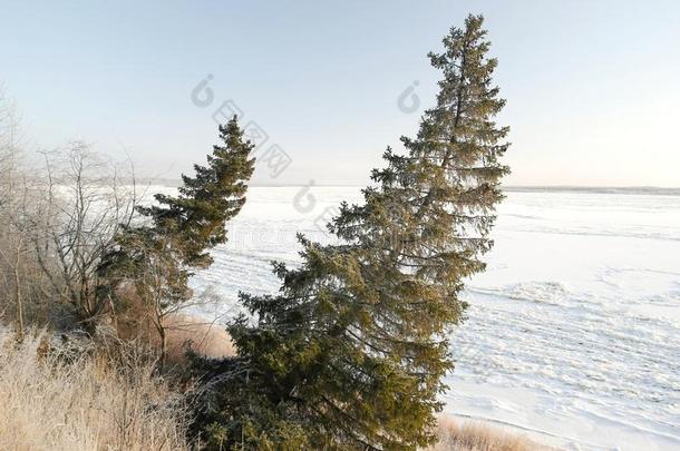
[[[515,435],[480,422],[457,422],[441,418],[439,443],[429,451],[536,451],[548,450],[523,435]]]

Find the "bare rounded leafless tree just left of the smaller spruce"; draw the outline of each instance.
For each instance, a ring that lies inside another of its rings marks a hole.
[[[33,244],[59,300],[90,329],[105,313],[114,313],[110,298],[97,295],[97,267],[118,231],[135,216],[134,168],[128,161],[122,170],[84,143],[46,154],[45,166],[46,214],[35,224]],[[58,264],[48,265],[50,261]]]

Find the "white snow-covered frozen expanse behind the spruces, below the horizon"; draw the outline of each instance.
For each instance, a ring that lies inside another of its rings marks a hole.
[[[251,188],[194,287],[226,315],[239,291],[275,292],[269,262],[298,261],[297,232],[324,239],[343,199],[359,188]],[[680,449],[680,196],[511,192],[494,238],[446,412],[564,449]]]

